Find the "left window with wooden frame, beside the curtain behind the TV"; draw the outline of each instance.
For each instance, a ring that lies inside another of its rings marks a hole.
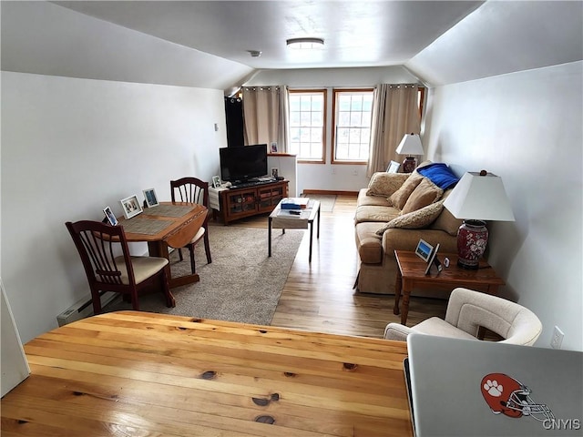
[[[326,90],[290,90],[290,153],[324,162]]]

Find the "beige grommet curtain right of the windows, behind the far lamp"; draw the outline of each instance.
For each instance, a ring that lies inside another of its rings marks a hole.
[[[416,85],[381,84],[374,89],[371,150],[366,175],[370,178],[376,171],[385,171],[392,160],[404,158],[394,151],[404,134],[418,134],[418,92]]]

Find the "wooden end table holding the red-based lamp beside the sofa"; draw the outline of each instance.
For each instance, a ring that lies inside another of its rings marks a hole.
[[[456,253],[438,253],[438,258],[443,262],[449,259],[449,267],[441,272],[433,267],[428,275],[425,275],[427,264],[414,252],[408,250],[395,250],[399,269],[394,284],[394,314],[399,314],[399,300],[403,293],[403,309],[401,310],[401,324],[406,325],[409,313],[409,298],[414,288],[431,290],[454,290],[456,287],[465,287],[471,290],[483,291],[488,294],[498,294],[498,288],[505,281],[496,276],[496,271],[486,262],[480,259],[479,269],[468,270],[457,267]]]

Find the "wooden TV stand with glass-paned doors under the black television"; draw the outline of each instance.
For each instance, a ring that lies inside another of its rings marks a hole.
[[[282,198],[288,197],[289,182],[278,180],[247,188],[209,188],[213,217],[216,219],[219,215],[227,225],[233,220],[271,213]]]

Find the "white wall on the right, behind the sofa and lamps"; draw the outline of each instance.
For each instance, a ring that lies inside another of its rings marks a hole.
[[[430,93],[424,145],[460,174],[502,177],[516,221],[489,227],[489,260],[506,297],[533,310],[549,347],[583,350],[583,63],[549,66]]]

